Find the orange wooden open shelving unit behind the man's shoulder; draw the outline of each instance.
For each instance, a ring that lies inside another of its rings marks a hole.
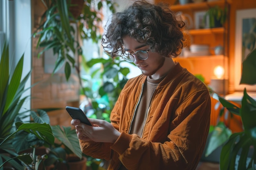
[[[160,2],[160,0],[155,0]],[[207,11],[211,7],[219,6],[222,9],[229,6],[231,0],[215,0],[215,1],[204,1],[199,3],[188,3],[188,4],[174,4],[174,0],[166,0],[170,4],[170,8],[175,12],[189,15],[193,20],[193,27],[187,30],[189,37],[191,38],[191,44],[204,44],[209,45],[210,54],[183,57],[178,56],[173,58],[174,61],[180,62],[180,64],[186,67],[192,74],[201,74],[205,78],[205,82],[210,84],[211,79],[214,77],[213,70],[216,66],[220,65],[225,69],[225,79],[228,79],[228,66],[229,66],[229,24],[226,22],[223,27],[218,28],[207,28],[207,29],[195,29],[195,17],[199,12]],[[229,13],[229,12],[228,12]],[[229,15],[227,15],[229,16]],[[229,17],[227,17],[228,19]],[[223,47],[223,55],[215,55],[215,47]]]

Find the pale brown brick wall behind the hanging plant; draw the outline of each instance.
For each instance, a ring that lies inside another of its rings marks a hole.
[[[41,0],[32,1],[32,31],[40,22],[40,16],[45,11]],[[45,73],[44,54],[38,58],[40,50],[36,49],[38,38],[32,39],[32,75],[31,84],[31,108],[62,108],[49,112],[51,125],[70,126],[71,118],[65,110],[65,106],[79,106],[79,79],[74,72],[68,81],[63,73],[52,75]],[[55,60],[54,60],[55,61]]]

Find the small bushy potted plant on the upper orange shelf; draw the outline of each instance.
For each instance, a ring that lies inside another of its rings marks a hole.
[[[219,6],[211,7],[204,15],[203,22],[205,23],[209,18],[209,27],[222,27],[227,20],[227,8],[220,8]]]

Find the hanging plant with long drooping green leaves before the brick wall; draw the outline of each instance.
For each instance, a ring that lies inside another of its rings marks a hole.
[[[103,1],[107,3],[111,11],[114,11],[110,0]],[[77,26],[77,33],[81,39],[92,39],[93,42],[98,42],[101,38],[99,26],[95,23],[101,22],[102,1],[84,0],[83,10],[77,18],[74,18],[71,11],[74,11],[74,7],[81,7],[81,5],[76,4],[78,2],[74,2],[74,0],[42,0],[42,2],[47,10],[42,15],[38,32],[34,33],[34,36],[39,36],[37,48],[43,48],[38,53],[38,57],[45,51],[53,49],[53,53],[56,55],[53,73],[65,65],[65,76],[68,80],[71,68],[74,68],[76,61],[79,67],[79,59],[74,56],[82,55],[82,48],[75,33]]]

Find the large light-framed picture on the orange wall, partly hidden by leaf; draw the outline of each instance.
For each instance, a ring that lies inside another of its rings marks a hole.
[[[256,48],[249,40],[256,34],[256,8],[236,11],[236,37],[235,37],[235,65],[234,65],[234,89],[235,91],[256,91],[256,85],[240,84],[242,75],[242,63],[247,55]],[[249,39],[250,38],[250,39]]]

